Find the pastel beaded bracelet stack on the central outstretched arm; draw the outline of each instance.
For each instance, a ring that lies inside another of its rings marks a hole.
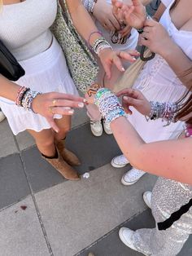
[[[126,116],[119,99],[107,88],[101,88],[97,91],[94,96],[94,104],[98,106],[100,113],[109,124],[118,117]]]

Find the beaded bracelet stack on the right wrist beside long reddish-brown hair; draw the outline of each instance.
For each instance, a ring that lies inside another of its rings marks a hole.
[[[167,126],[175,121],[175,116],[179,108],[177,104],[170,102],[159,103],[155,101],[151,101],[150,104],[151,113],[149,117],[146,117],[146,121],[162,118],[162,121],[168,121]]]

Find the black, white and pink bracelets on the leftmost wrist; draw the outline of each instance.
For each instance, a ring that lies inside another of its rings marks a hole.
[[[24,86],[20,87],[20,90],[18,90],[17,93],[15,104],[17,106],[23,107],[24,109],[33,111],[32,102],[37,95],[41,95],[41,93]]]

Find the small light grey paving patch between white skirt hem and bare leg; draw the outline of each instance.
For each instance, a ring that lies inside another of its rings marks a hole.
[[[17,140],[20,151],[31,148],[35,145],[35,140],[27,131],[21,132],[19,135],[15,136]]]

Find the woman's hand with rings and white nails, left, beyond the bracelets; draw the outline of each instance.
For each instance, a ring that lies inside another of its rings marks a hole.
[[[68,95],[59,92],[50,92],[41,95],[37,95],[33,99],[32,108],[35,113],[40,114],[42,117],[46,117],[46,120],[50,123],[50,126],[56,132],[59,132],[59,127],[56,126],[54,121],[54,115],[72,115],[74,110],[72,108],[84,108],[85,99]]]

